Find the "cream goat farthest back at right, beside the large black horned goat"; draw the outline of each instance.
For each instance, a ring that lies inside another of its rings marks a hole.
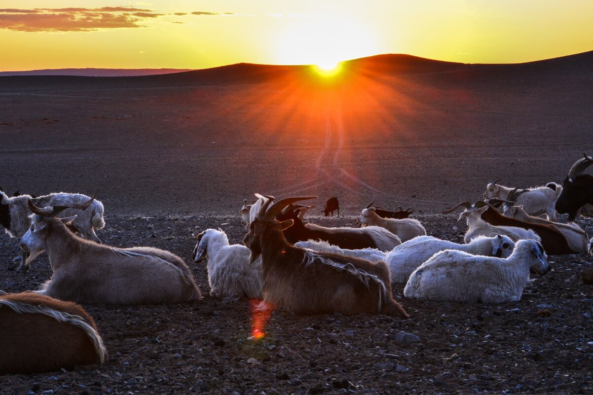
[[[511,200],[509,194],[513,188],[496,184],[500,180],[502,180],[502,177],[487,184],[484,199]],[[518,197],[517,204],[523,205],[529,215],[546,214],[548,219],[556,221],[555,203],[560,193],[562,193],[562,186],[556,183],[549,183],[546,186],[533,189],[524,189],[521,196]]]

